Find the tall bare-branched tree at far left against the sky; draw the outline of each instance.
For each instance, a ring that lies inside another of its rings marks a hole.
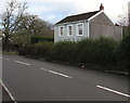
[[[27,9],[27,2],[18,3],[14,0],[8,2],[4,13],[2,14],[2,33],[4,34],[3,44],[9,51],[9,39],[14,33],[20,22],[23,20],[25,10]]]

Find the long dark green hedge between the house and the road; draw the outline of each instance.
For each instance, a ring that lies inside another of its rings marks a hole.
[[[116,42],[110,38],[83,39],[79,42],[62,41],[57,43],[39,42],[24,48],[25,54],[50,57],[70,63],[115,63]]]

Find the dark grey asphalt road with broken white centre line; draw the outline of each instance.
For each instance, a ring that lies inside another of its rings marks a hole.
[[[2,79],[15,101],[123,101],[128,76],[20,55],[3,55]],[[112,102],[109,102],[112,103]]]

